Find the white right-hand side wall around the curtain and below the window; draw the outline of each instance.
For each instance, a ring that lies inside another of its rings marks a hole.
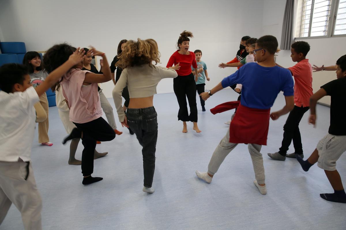
[[[281,41],[285,4],[286,0],[264,0],[263,6],[262,34],[265,35],[268,31],[271,31],[273,35],[276,34],[279,44]],[[307,58],[311,65],[322,66],[324,64],[325,66],[331,66],[335,64],[339,57],[346,54],[344,48],[346,37],[304,39],[302,41],[310,44],[310,52]],[[292,62],[290,55],[291,51],[282,50],[279,52],[276,62],[283,67],[291,67],[295,63]],[[312,77],[312,88],[316,92],[323,84],[336,79],[336,74],[334,71],[322,71],[313,73]],[[324,97],[319,102],[330,105],[330,97]]]

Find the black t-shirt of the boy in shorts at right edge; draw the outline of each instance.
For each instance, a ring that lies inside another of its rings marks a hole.
[[[329,134],[346,135],[346,78],[340,78],[321,86],[331,96]]]

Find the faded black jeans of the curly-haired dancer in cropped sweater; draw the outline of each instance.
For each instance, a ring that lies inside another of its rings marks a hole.
[[[151,188],[155,171],[157,113],[154,107],[127,109],[127,123],[136,134],[143,155],[144,187]]]

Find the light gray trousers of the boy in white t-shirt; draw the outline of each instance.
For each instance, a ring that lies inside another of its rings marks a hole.
[[[21,213],[25,230],[42,229],[42,200],[36,187],[31,162],[28,165],[21,160],[0,161],[0,225],[12,203]]]

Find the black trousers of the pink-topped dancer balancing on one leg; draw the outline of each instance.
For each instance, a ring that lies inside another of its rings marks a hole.
[[[73,122],[74,123],[74,122]],[[82,173],[89,176],[94,171],[94,151],[96,140],[111,141],[115,138],[115,132],[102,117],[86,123],[74,123],[78,130],[83,132],[82,144]]]

